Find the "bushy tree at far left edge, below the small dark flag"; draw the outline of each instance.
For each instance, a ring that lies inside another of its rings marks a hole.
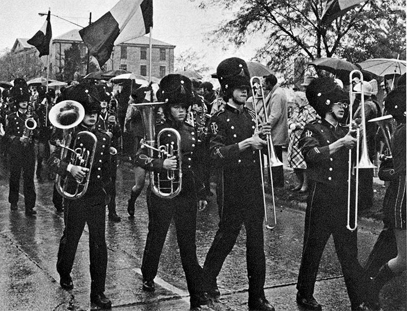
[[[19,77],[29,80],[44,74],[44,64],[38,53],[15,55],[10,49],[5,49],[0,54],[0,80],[11,81]]]

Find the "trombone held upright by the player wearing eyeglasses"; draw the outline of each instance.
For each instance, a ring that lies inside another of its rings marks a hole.
[[[359,77],[354,78],[354,74],[359,75]],[[365,116],[365,99],[363,91],[363,74],[359,70],[352,70],[349,73],[349,130],[353,126],[353,104],[356,99],[356,94],[361,95],[360,105],[362,111],[362,152],[360,153],[360,126],[356,129],[356,166],[355,166],[355,217],[353,227],[350,225],[350,208],[351,208],[351,175],[352,175],[352,150],[349,149],[349,159],[348,159],[348,192],[347,192],[347,223],[346,228],[350,231],[355,231],[358,228],[358,200],[359,200],[359,169],[371,169],[376,166],[369,159],[369,154],[367,151],[367,140],[366,140],[366,116]],[[360,91],[354,90],[354,86],[360,84]],[[359,159],[360,158],[360,159]]]

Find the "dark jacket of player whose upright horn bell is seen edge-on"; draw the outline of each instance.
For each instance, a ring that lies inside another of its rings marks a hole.
[[[195,161],[196,150],[198,147],[197,142],[197,133],[196,129],[189,125],[186,122],[183,122],[181,127],[175,128],[173,123],[170,120],[167,120],[163,123],[159,123],[155,127],[156,135],[164,128],[173,128],[176,129],[181,136],[181,152],[182,152],[182,190],[181,194],[187,193],[196,193],[202,192],[203,183],[200,180],[199,176],[196,175],[196,165],[199,165]],[[157,140],[155,139],[155,142]],[[172,142],[175,142],[176,138],[173,134],[165,134],[160,137],[160,145],[171,145]],[[158,148],[158,146],[155,146]],[[148,171],[154,171],[155,173],[160,173],[160,176],[165,176],[167,170],[162,168],[164,163],[164,158],[158,158],[158,152],[154,151],[153,157],[149,156],[149,151],[146,147],[141,148],[138,154],[135,157],[135,163]],[[177,180],[177,176],[175,176]]]

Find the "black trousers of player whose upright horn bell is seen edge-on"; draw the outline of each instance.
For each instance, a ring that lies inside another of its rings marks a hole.
[[[184,181],[183,181],[184,183]],[[194,193],[182,193],[173,199],[161,199],[147,189],[148,234],[144,248],[141,271],[143,278],[152,280],[157,274],[162,246],[168,228],[174,218],[182,268],[185,272],[188,292],[201,291],[202,268],[197,259],[195,241],[197,229],[197,202]]]

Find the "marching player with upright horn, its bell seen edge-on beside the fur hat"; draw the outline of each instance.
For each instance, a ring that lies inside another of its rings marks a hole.
[[[157,91],[158,101],[165,102],[164,113],[166,121],[157,125],[158,133],[163,128],[173,128],[180,133],[182,150],[182,188],[181,192],[172,199],[160,198],[147,190],[147,205],[149,224],[146,246],[144,248],[141,271],[143,274],[143,289],[154,291],[154,277],[157,274],[159,257],[164,245],[171,220],[174,219],[177,240],[181,255],[182,267],[185,272],[188,292],[191,295],[191,308],[199,307],[209,302],[202,288],[201,271],[196,254],[196,221],[197,200],[203,190],[201,183],[195,178],[193,158],[197,147],[195,129],[185,122],[186,111],[192,101],[191,80],[182,75],[170,74],[160,81]],[[174,140],[174,135],[165,135],[164,144]],[[161,144],[161,142],[160,142]],[[137,154],[138,166],[154,172],[167,175],[166,170],[176,168],[177,160],[173,157],[150,158],[146,148]],[[203,208],[205,200],[199,200]]]

